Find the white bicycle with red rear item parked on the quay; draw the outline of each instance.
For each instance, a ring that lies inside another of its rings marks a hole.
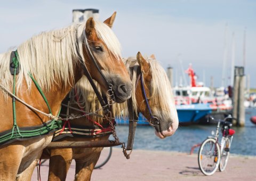
[[[215,135],[212,133],[214,136],[207,137],[198,151],[198,164],[204,175],[213,175],[218,167],[220,171],[223,171],[227,166],[230,146],[235,134],[235,130],[230,129],[231,122],[226,121],[227,119],[232,120],[234,118],[229,114],[225,119],[219,120]],[[222,138],[219,143],[220,124],[222,124]]]

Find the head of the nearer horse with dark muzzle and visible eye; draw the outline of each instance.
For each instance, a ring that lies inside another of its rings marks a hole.
[[[128,71],[121,59],[121,48],[111,30],[116,13],[103,23],[89,18],[82,35],[83,53],[86,67],[102,91],[110,95],[117,103],[130,98],[132,85]],[[98,64],[95,66],[94,62]]]

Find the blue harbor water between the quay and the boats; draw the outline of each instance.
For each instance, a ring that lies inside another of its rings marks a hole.
[[[236,133],[230,153],[256,155],[256,125],[250,121],[252,116],[256,116],[256,109],[246,109],[245,127],[232,127]],[[211,132],[212,130],[215,131],[215,128],[215,125],[180,126],[173,136],[160,139],[155,135],[153,127],[138,126],[135,133],[133,149],[189,153],[193,145],[202,143],[207,136],[211,136]],[[126,143],[129,132],[128,125],[117,125],[116,131],[120,141]],[[194,153],[197,153],[198,149],[197,147]]]

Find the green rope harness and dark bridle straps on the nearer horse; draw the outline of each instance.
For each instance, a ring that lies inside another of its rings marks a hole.
[[[77,41],[78,41],[78,39],[77,39]],[[114,94],[113,91],[112,91],[112,85],[108,83],[107,78],[103,75],[102,71],[100,70],[97,62],[95,61],[95,59],[94,59],[94,57],[93,57],[93,55],[91,53],[89,44],[87,43],[87,39],[86,39],[86,43],[85,44],[86,44],[87,49],[90,52],[90,53],[88,53],[89,56],[90,56],[90,59],[94,63],[95,67],[99,71],[99,73],[102,76],[102,78],[106,81],[106,84],[108,85],[108,87],[110,88],[108,90],[108,92],[110,94]],[[48,117],[50,116],[52,119],[50,121],[47,121],[46,123],[44,123],[41,126],[24,127],[24,128],[19,128],[18,127],[17,121],[16,121],[15,97],[17,98],[17,100],[21,101],[23,104],[27,105],[29,108],[33,108],[33,107],[31,107],[27,103],[25,103],[22,100],[20,100],[17,96],[15,96],[15,80],[16,80],[16,75],[19,73],[19,55],[18,55],[17,50],[15,52],[11,52],[11,58],[10,59],[11,59],[10,60],[10,72],[13,75],[13,92],[11,93],[9,90],[4,88],[2,85],[0,86],[0,88],[2,88],[5,92],[9,93],[13,97],[13,99],[12,99],[13,127],[10,130],[7,130],[7,131],[4,131],[4,132],[0,133],[0,145],[11,143],[11,142],[14,142],[16,140],[24,140],[24,139],[28,139],[30,137],[35,137],[35,136],[41,136],[41,135],[49,134],[50,132],[55,131],[58,128],[61,128],[61,124],[62,124],[61,120],[59,120],[59,119],[57,120],[57,119],[55,119],[56,117],[52,116],[52,111],[51,111],[50,105],[49,105],[49,103],[48,103],[48,101],[47,101],[47,99],[46,99],[46,97],[45,97],[41,87],[39,86],[37,81],[34,79],[34,77],[31,75],[31,73],[29,73],[30,78],[33,80],[37,90],[39,91],[39,93],[43,97],[43,99],[44,99],[44,101],[45,101],[45,103],[46,103],[50,113],[49,114],[45,114],[42,111],[39,111],[39,110],[36,110],[36,109],[34,109],[34,110],[43,113],[45,116],[48,116]],[[82,63],[82,68],[83,68],[84,75],[89,79],[95,94],[99,98],[99,101],[100,101],[100,104],[102,106],[102,109],[105,111],[105,113],[109,112],[108,102],[103,100],[103,98],[102,98],[101,94],[99,93],[95,83],[92,80],[90,72],[86,68],[86,65],[82,61],[83,59],[82,59],[82,57],[81,57],[81,55],[79,53],[78,53],[78,59]],[[59,113],[58,113],[58,116],[59,116]]]

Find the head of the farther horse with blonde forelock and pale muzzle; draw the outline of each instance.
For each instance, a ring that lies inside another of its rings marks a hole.
[[[150,120],[158,137],[171,136],[177,130],[179,121],[170,81],[154,56],[147,61],[138,52],[137,61],[143,79],[138,82],[135,93],[138,111]],[[144,85],[142,86],[142,84]],[[146,97],[143,94],[143,89],[145,89]]]

